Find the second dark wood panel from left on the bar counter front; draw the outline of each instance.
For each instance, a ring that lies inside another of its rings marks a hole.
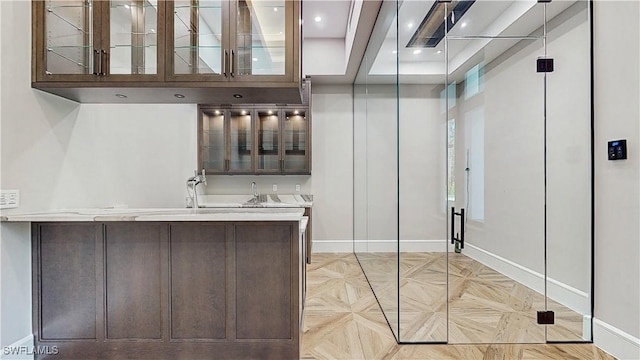
[[[162,223],[105,225],[107,339],[162,338]]]

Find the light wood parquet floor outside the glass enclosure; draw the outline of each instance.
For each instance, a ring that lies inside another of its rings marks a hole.
[[[614,359],[591,344],[398,345],[353,254],[312,260],[301,359]]]

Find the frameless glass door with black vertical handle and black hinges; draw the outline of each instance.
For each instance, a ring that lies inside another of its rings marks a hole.
[[[542,46],[491,39],[459,67],[449,62],[450,343],[545,341]]]

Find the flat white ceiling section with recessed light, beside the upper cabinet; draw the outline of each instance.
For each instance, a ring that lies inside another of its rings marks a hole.
[[[352,3],[355,0],[303,0],[304,38],[344,39]],[[319,22],[315,21],[316,16],[320,16]]]

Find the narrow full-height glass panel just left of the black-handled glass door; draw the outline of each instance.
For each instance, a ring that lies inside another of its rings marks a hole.
[[[432,4],[401,3],[397,48],[385,53],[397,56],[400,75],[398,290],[403,342],[447,341],[447,147],[443,136],[447,122],[441,109],[444,44],[411,43]],[[444,8],[437,7],[430,18],[443,19]]]

